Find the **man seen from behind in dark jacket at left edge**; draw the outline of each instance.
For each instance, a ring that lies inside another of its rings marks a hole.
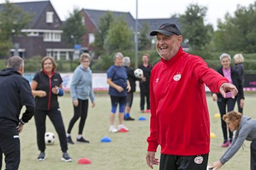
[[[8,59],[0,71],[0,169],[5,154],[6,169],[18,169],[20,162],[19,133],[33,116],[35,101],[28,80],[22,77],[24,61],[18,56]],[[23,105],[26,111],[19,119]]]

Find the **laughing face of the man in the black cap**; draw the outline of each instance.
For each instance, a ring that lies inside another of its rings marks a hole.
[[[182,36],[166,36],[158,33],[156,35],[156,50],[163,59],[168,61],[179,51],[181,42]]]

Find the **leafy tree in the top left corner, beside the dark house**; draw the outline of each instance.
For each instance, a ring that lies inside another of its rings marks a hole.
[[[32,15],[21,10],[8,0],[0,10],[0,56],[9,56],[13,46],[12,37],[22,34],[23,28],[28,28]]]

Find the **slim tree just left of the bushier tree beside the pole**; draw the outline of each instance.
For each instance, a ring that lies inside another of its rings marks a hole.
[[[104,41],[106,39],[107,32],[110,24],[114,22],[113,12],[107,11],[101,18],[98,24],[99,31],[95,33],[95,41],[93,43],[94,51],[97,56],[104,53]]]

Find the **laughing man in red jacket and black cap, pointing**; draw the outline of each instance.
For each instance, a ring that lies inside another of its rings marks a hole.
[[[207,169],[210,122],[205,84],[212,92],[237,95],[228,79],[209,69],[199,56],[185,53],[176,24],[163,23],[150,33],[156,36],[156,50],[161,61],[150,78],[150,137],[146,161],[150,168],[159,164],[155,158],[161,146],[160,169]]]

